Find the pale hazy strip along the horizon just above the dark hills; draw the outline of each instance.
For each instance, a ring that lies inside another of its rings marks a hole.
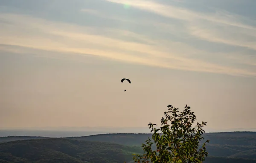
[[[204,127],[206,133],[256,132],[256,129],[212,129]],[[40,136],[40,137],[83,137],[97,134],[150,133],[148,127],[41,127],[0,129],[0,137]]]

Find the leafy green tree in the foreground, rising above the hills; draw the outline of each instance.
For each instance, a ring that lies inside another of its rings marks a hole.
[[[202,163],[208,155],[206,143],[209,143],[209,140],[201,143],[204,139],[202,127],[206,126],[207,122],[197,123],[192,128],[196,116],[189,106],[186,105],[183,112],[179,112],[179,109],[172,105],[167,107],[168,112],[164,112],[165,118],[162,117],[159,129],[154,127],[156,124],[148,124],[151,132],[154,132],[154,142],[148,138],[146,144],[142,144],[144,154],[133,154],[134,163]],[[152,150],[153,144],[156,150]]]

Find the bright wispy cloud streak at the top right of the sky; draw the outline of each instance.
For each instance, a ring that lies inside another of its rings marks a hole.
[[[256,21],[238,14],[229,13],[224,10],[217,10],[215,13],[205,14],[177,6],[163,5],[150,0],[107,1],[120,4],[127,3],[137,9],[150,11],[163,17],[182,20],[186,27],[186,32],[202,40],[241,46],[254,50],[256,48],[256,27],[242,23],[250,22],[255,24]]]

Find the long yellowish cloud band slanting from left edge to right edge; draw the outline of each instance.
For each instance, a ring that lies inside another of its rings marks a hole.
[[[148,36],[127,30],[79,26],[9,13],[0,15],[0,25],[0,43],[4,45],[81,55],[91,54],[122,62],[186,71],[256,76],[254,71],[248,69],[221,66],[192,58],[189,55],[210,53],[188,44],[172,40],[152,40]],[[107,35],[99,34],[99,31]],[[140,40],[140,43],[122,39],[125,36]]]

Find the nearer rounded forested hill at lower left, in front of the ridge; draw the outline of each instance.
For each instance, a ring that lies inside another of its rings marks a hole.
[[[239,157],[253,154],[251,150],[246,152],[246,146],[244,149],[238,146],[235,150],[245,154]],[[142,152],[140,146],[107,142],[64,138],[20,140],[0,143],[0,163],[128,163],[132,161],[132,154]],[[209,156],[204,163],[256,163],[256,160]]]

